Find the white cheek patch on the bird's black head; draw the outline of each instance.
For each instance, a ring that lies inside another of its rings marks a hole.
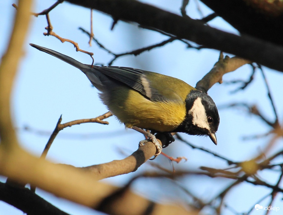
[[[205,108],[201,103],[201,98],[195,99],[193,107],[191,108],[191,110],[189,110],[189,114],[193,117],[192,123],[195,126],[210,130],[209,124],[207,122]]]

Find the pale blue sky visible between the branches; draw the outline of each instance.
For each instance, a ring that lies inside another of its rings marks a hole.
[[[165,10],[180,13],[181,1],[148,2]],[[2,29],[0,32],[1,55],[4,53],[8,43],[13,16],[16,12],[11,6],[12,3],[14,2],[10,0],[0,2],[0,17],[1,20],[4,20],[0,23],[0,29]],[[34,11],[42,11],[53,3],[54,1],[34,2]],[[208,15],[211,12],[204,5],[200,4],[200,6],[204,15]],[[192,18],[201,18],[195,8],[195,1],[191,1],[187,14]],[[89,30],[89,16],[90,11],[88,9],[77,7],[67,2],[60,4],[50,13],[56,34],[78,42],[80,48],[94,53],[96,63],[106,65],[112,59],[112,56],[97,47],[94,42],[92,42],[92,47],[89,47],[88,37],[78,30],[79,27]],[[209,24],[237,34],[237,31],[221,18],[216,18]],[[97,11],[93,12],[95,37],[114,53],[131,51],[134,48],[142,48],[167,39],[164,35],[143,30],[138,28],[137,25],[122,21],[118,22],[113,31],[110,31],[111,25],[112,19],[109,16]],[[67,54],[80,62],[91,63],[90,57],[83,53],[75,52],[73,45],[70,43],[61,43],[54,37],[43,36],[45,26],[47,26],[45,16],[32,18],[25,45],[25,56],[19,67],[12,98],[13,118],[15,127],[18,129],[17,133],[20,143],[30,153],[38,156],[44,149],[49,138],[48,135],[54,129],[61,114],[63,117],[62,122],[68,122],[75,119],[97,117],[107,112],[106,107],[104,107],[97,96],[97,89],[91,86],[82,72],[28,45],[28,43],[35,43]],[[195,86],[196,82],[217,62],[218,56],[219,51],[187,49],[184,43],[174,41],[162,48],[142,53],[137,57],[120,57],[113,65],[155,71],[177,77]],[[283,103],[280,90],[283,79],[282,74],[267,68],[264,68],[264,71],[271,87],[279,119],[282,121]],[[251,72],[250,66],[243,66],[234,72],[224,75],[223,80],[247,80]],[[267,118],[274,119],[272,106],[267,98],[267,90],[259,71],[256,72],[254,81],[247,89],[231,94],[231,91],[237,87],[239,85],[216,84],[208,93],[218,107],[229,103],[247,102],[256,104]],[[182,137],[195,145],[202,146],[233,161],[253,158],[265,149],[271,136],[251,141],[243,141],[242,139],[245,136],[269,131],[269,128],[258,117],[251,116],[241,109],[219,108],[219,114],[220,126],[217,132],[217,146],[209,138],[181,134]],[[115,117],[111,117],[107,121],[110,122],[108,126],[88,123],[64,129],[52,144],[47,159],[53,162],[83,167],[124,158],[124,155],[119,153],[119,149],[122,149],[127,154],[135,151],[137,143],[143,136],[133,130],[125,130]],[[26,131],[23,129],[25,126],[30,128],[30,130],[44,131],[47,134],[38,135],[35,132]],[[277,141],[271,151],[267,152],[267,155],[273,154],[278,149],[282,149],[282,140]],[[226,167],[226,164],[221,160],[196,149],[193,150],[178,141],[164,149],[164,152],[171,156],[188,158],[187,162],[174,164],[177,169],[196,170],[199,166]],[[171,164],[162,156],[159,156],[154,162],[159,162],[164,168],[171,169]],[[154,171],[155,169],[148,163],[142,165],[135,173],[113,177],[104,181],[115,185],[123,185],[134,175],[143,171]],[[261,172],[261,176],[272,183],[278,178],[278,174],[271,171]],[[0,177],[0,181],[5,181],[5,178]],[[199,198],[209,200],[220,190],[225,189],[232,181],[190,176],[180,179],[179,182]],[[166,189],[164,189],[164,186]],[[187,198],[182,191],[176,190],[170,181],[138,180],[133,184],[133,190],[143,196],[150,196],[154,200],[160,200],[161,196],[164,196],[164,190],[166,190],[165,195],[172,193],[172,195],[167,196],[168,199],[165,199],[166,201],[170,199],[185,201]],[[238,212],[246,212],[268,192],[270,191],[263,187],[243,183],[234,187],[227,194],[225,202]],[[37,190],[37,193],[67,213],[99,214],[88,208],[59,199],[42,190]],[[278,194],[273,206],[282,205],[282,202],[280,202],[282,197],[282,194]],[[269,199],[260,204],[266,205],[268,202]],[[21,211],[2,202],[0,202],[0,211],[3,214],[22,214]],[[223,214],[232,214],[226,209],[224,212]],[[251,214],[258,214],[257,212],[254,211]],[[279,213],[272,212],[270,214]]]

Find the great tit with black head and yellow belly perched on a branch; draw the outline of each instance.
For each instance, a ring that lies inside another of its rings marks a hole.
[[[52,49],[29,44],[81,70],[99,90],[99,97],[110,112],[126,128],[141,132],[154,143],[154,158],[162,151],[155,137],[159,134],[168,137],[163,148],[174,141],[171,132],[209,136],[217,145],[218,110],[203,91],[171,76],[130,67],[87,65]],[[139,146],[147,141],[141,141]]]

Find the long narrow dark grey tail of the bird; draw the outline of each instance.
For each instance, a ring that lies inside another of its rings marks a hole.
[[[65,61],[66,63],[69,63],[74,67],[77,67],[80,70],[89,69],[89,66],[87,66],[87,65],[85,65],[85,64],[75,60],[74,58],[71,58],[71,57],[65,55],[65,54],[61,54],[61,53],[56,52],[54,50],[51,50],[49,48],[44,48],[42,46],[38,46],[38,45],[35,45],[35,44],[32,44],[32,43],[29,43],[29,45],[31,45],[34,48],[37,48],[39,51],[46,52],[46,53],[48,53],[48,54],[50,54],[54,57],[57,57],[60,60]]]

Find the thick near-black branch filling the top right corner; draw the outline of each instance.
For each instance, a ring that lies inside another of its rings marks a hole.
[[[282,1],[201,1],[237,29],[241,35],[251,35],[279,46],[283,45],[283,34],[280,30],[283,28]]]

